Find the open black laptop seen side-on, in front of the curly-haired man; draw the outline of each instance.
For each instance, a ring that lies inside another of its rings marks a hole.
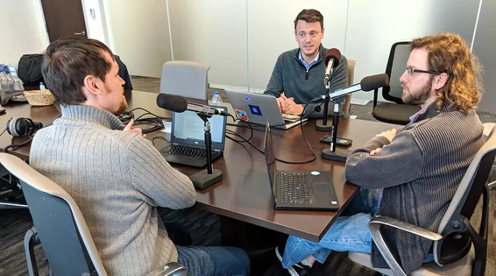
[[[274,209],[332,211],[339,209],[331,172],[277,170],[269,121],[265,128],[264,150]]]

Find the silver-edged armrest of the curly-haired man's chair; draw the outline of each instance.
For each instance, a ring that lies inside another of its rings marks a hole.
[[[375,245],[379,248],[382,257],[384,257],[384,260],[386,260],[389,268],[391,268],[396,276],[406,276],[406,273],[404,273],[403,268],[400,266],[400,264],[397,263],[396,259],[393,257],[393,254],[391,254],[391,251],[389,250],[386,242],[384,242],[384,238],[380,233],[380,227],[382,225],[404,230],[406,232],[418,235],[420,237],[425,237],[426,239],[431,239],[433,241],[439,241],[440,239],[442,239],[442,235],[433,233],[429,230],[425,230],[424,228],[409,224],[404,221],[400,221],[398,219],[393,219],[391,217],[377,216],[369,221],[369,231],[371,233],[372,239],[375,242]]]

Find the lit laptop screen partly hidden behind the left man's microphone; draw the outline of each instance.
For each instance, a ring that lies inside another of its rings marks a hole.
[[[227,111],[227,108],[216,106],[215,108]],[[212,149],[224,150],[225,128],[227,117],[214,115],[209,118]],[[183,146],[205,148],[205,130],[203,120],[196,112],[186,110],[185,112],[172,112],[171,142]]]

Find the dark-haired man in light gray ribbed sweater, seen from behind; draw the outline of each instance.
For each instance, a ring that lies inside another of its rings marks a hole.
[[[188,275],[248,275],[239,248],[175,246],[157,207],[195,204],[192,181],[172,168],[132,121],[112,52],[93,39],[48,46],[41,68],[62,116],[34,136],[30,165],[76,201],[109,275],[158,275],[169,262]]]

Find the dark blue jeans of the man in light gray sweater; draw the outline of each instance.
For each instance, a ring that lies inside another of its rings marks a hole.
[[[178,264],[188,276],[245,276],[250,264],[244,250],[229,246],[176,246]]]

